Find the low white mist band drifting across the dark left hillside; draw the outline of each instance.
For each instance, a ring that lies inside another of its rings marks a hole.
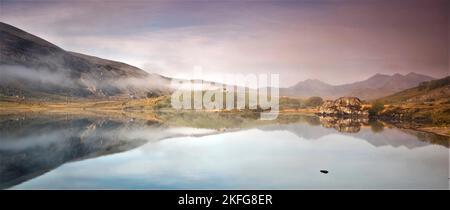
[[[72,73],[72,75],[71,75]],[[115,96],[139,95],[158,90],[168,92],[170,80],[159,75],[148,75],[142,78],[112,76],[102,77],[101,71],[89,73],[73,71],[65,68],[50,69],[47,67],[30,68],[21,65],[0,65],[0,87],[10,90],[44,91],[47,93],[70,93],[79,96]]]

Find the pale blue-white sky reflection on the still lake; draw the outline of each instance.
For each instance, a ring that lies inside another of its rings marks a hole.
[[[383,134],[401,137],[399,145],[371,143],[392,142]],[[448,148],[399,129],[344,134],[289,124],[149,141],[66,163],[12,189],[448,189],[448,174]]]

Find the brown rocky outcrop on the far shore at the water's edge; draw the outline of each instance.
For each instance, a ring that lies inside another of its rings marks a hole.
[[[368,116],[369,113],[356,97],[341,97],[334,101],[327,100],[319,107],[321,116]]]

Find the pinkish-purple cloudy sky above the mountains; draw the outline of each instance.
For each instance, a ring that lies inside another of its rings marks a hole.
[[[272,73],[344,84],[448,76],[446,0],[7,1],[0,21],[65,50],[178,77]]]

